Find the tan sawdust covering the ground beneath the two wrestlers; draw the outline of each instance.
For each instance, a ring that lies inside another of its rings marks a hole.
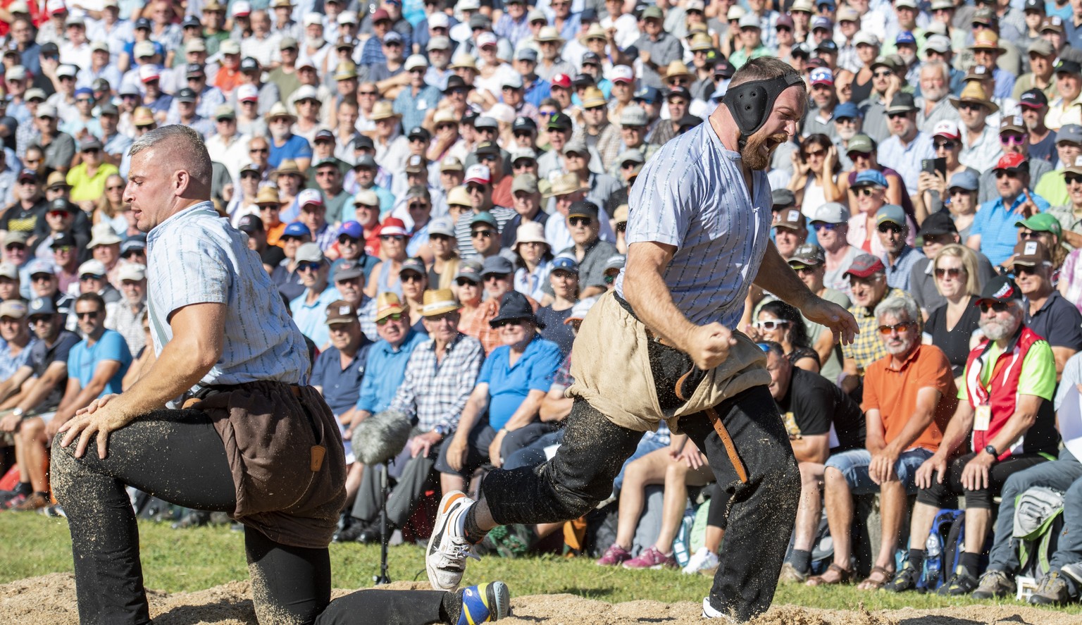
[[[427,589],[420,582],[396,582],[390,589]],[[334,597],[349,590],[335,590]],[[197,593],[149,591],[156,625],[258,625],[248,582],[230,582]],[[661,623],[701,625],[698,603],[628,601],[606,603],[575,595],[532,595],[512,599],[515,616],[507,625],[624,625]],[[78,623],[75,577],[53,573],[0,585],[0,624],[67,625]],[[817,610],[777,606],[753,625],[1082,625],[1082,616],[1022,606],[966,606],[937,610]]]

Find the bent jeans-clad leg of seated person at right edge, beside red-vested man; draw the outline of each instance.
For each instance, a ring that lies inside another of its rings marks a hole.
[[[1001,571],[1012,577],[1018,573],[1018,549],[1013,537],[1014,505],[1018,495],[1031,486],[1047,486],[1066,492],[1079,478],[1082,478],[1082,463],[1079,463],[1066,448],[1059,452],[1059,460],[1042,463],[1007,478],[1003,484],[1000,510],[995,518],[995,538],[988,555],[988,571]],[[1082,517],[1071,519],[1065,516],[1064,520],[1066,523],[1082,523]],[[1082,532],[1082,529],[1077,530],[1076,534],[1079,532]]]

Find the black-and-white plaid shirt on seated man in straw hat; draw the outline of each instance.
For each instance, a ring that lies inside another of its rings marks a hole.
[[[480,341],[463,334],[447,346],[443,363],[436,362],[436,340],[422,342],[409,356],[391,409],[415,416],[422,431],[440,426],[449,435],[458,426],[484,360]]]

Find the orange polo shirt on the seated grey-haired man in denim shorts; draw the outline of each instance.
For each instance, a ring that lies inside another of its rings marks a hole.
[[[920,337],[916,338],[920,341]],[[954,373],[942,350],[936,346],[918,344],[900,368],[894,368],[892,356],[884,356],[868,366],[865,375],[865,396],[861,408],[879,411],[885,431],[884,440],[890,443],[906,428],[916,409],[918,391],[934,388],[940,393],[932,422],[908,450],[923,447],[935,453],[944,438],[947,422],[958,407],[958,388]]]

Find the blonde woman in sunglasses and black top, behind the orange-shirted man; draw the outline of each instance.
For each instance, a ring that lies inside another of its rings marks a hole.
[[[947,303],[932,311],[924,325],[924,342],[947,354],[954,377],[965,372],[969,350],[979,342],[980,294],[977,257],[969,248],[951,244],[944,246],[932,261],[936,290]]]

